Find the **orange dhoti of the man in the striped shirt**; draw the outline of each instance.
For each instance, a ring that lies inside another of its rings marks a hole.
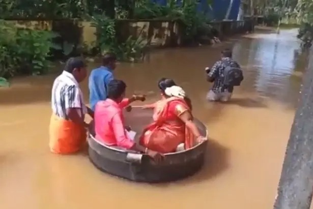
[[[86,145],[86,137],[83,126],[52,113],[49,127],[49,146],[52,153],[75,153]]]

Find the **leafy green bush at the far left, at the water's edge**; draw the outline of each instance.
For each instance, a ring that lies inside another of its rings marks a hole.
[[[43,74],[49,67],[52,38],[49,31],[18,28],[0,21],[0,77],[17,74]]]

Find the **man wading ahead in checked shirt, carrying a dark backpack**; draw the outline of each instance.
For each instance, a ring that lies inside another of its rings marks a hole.
[[[221,59],[213,65],[212,69],[205,69],[207,81],[214,82],[207,95],[209,101],[229,101],[234,86],[239,86],[243,80],[243,72],[240,65],[232,59],[232,51],[224,49],[221,55]]]

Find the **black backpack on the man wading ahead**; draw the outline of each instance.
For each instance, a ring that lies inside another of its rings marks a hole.
[[[223,72],[222,82],[225,86],[238,86],[243,80],[243,72],[235,62],[222,61],[226,66]]]

